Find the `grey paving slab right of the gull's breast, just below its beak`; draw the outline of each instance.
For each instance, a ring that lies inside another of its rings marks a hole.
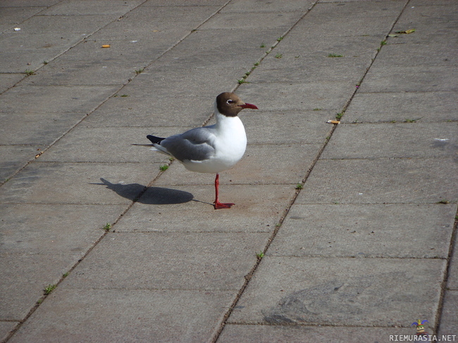
[[[335,113],[261,110],[241,117],[249,144],[322,144],[332,129],[326,121],[334,118]]]

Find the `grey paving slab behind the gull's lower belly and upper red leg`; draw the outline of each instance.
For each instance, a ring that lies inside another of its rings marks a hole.
[[[273,146],[249,145],[245,156],[232,169],[221,173],[221,185],[290,184],[302,182],[311,168],[320,146],[318,144],[278,144]],[[266,166],[262,161],[268,158]],[[179,164],[179,162],[175,162]],[[276,170],[272,173],[272,170]],[[208,185],[213,184],[213,174],[192,173],[183,166],[173,166],[164,173],[156,185]]]

